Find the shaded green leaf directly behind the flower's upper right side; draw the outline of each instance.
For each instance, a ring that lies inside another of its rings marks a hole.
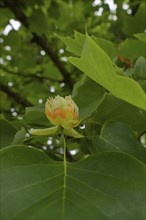
[[[84,83],[81,79],[81,84],[78,88],[75,87],[75,89],[76,91],[73,91],[73,93],[75,93],[73,99],[79,107],[80,119],[83,120],[91,116],[91,114],[97,109],[97,106],[105,96],[105,90],[89,78],[84,79]]]

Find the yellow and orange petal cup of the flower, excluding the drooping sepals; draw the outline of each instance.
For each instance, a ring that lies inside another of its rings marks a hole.
[[[71,96],[65,98],[59,95],[49,98],[45,105],[45,113],[53,125],[64,128],[74,128],[79,125],[79,110]]]

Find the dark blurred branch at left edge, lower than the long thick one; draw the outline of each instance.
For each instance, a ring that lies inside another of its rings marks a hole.
[[[0,82],[0,89],[7,95],[12,97],[17,103],[21,104],[23,107],[30,107],[32,104],[25,98],[23,98],[19,93],[12,91],[8,86]]]

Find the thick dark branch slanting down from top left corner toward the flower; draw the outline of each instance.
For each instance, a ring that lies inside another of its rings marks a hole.
[[[27,17],[22,12],[22,7],[18,0],[3,0],[6,7],[8,7],[16,16],[16,18],[28,29]],[[45,52],[49,55],[51,60],[57,66],[64,77],[64,82],[69,85],[71,88],[73,86],[73,80],[70,76],[70,73],[65,69],[64,65],[60,61],[57,54],[52,50],[48,40],[45,36],[39,36],[36,33],[32,33],[33,39],[32,41],[38,44]]]

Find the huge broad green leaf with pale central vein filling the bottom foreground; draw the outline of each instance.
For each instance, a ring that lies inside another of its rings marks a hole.
[[[17,146],[1,156],[2,219],[145,219],[146,170],[127,154],[68,163]]]

